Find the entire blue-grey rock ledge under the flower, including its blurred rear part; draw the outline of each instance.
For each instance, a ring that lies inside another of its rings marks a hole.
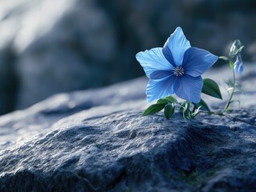
[[[146,78],[59,94],[0,118],[0,191],[254,191],[256,68],[226,117],[140,117]],[[229,68],[206,74],[221,82]],[[205,75],[205,76],[206,76]],[[223,88],[223,87],[222,87]],[[221,89],[222,89],[221,88]],[[225,101],[205,97],[213,109]]]

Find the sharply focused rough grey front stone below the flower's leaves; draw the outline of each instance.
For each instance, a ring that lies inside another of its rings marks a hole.
[[[254,127],[239,124],[234,131],[213,117],[167,121],[132,111],[90,119],[81,113],[73,120],[1,154],[1,191],[256,187]]]

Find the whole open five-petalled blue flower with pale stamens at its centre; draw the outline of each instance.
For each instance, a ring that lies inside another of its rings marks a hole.
[[[149,78],[148,102],[171,94],[190,102],[200,102],[201,74],[217,62],[217,56],[209,51],[191,47],[181,27],[177,27],[163,48],[140,51],[136,59]]]

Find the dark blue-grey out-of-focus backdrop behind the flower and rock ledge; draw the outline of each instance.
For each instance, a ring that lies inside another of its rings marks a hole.
[[[240,38],[256,61],[255,0],[0,0],[0,114],[144,75],[135,54],[177,26],[217,55]]]

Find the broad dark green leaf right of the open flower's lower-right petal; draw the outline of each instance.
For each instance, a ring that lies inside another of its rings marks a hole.
[[[204,79],[204,86],[203,86],[201,92],[204,94],[208,94],[209,96],[212,96],[213,98],[222,99],[221,90],[220,90],[219,86],[217,85],[217,82],[214,82],[210,78]]]

